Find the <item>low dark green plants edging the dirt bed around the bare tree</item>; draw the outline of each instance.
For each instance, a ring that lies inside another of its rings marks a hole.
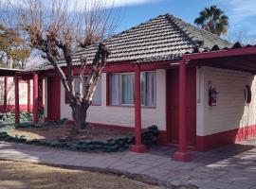
[[[49,123],[62,125],[62,121],[52,122],[48,121],[47,124],[43,124],[42,127],[47,126]],[[22,125],[24,127],[24,124]],[[20,125],[19,125],[20,127]],[[26,125],[26,127],[36,127],[35,125]],[[7,142],[17,142],[28,145],[39,145],[39,146],[51,146],[64,148],[72,151],[103,151],[103,152],[115,152],[124,151],[129,148],[129,146],[134,143],[135,137],[133,135],[121,136],[119,138],[109,138],[107,140],[82,140],[76,143],[70,143],[64,140],[58,141],[42,141],[42,140],[27,140],[26,136],[10,136],[8,131],[13,129],[14,126],[8,126],[0,129],[0,140]],[[146,146],[153,146],[157,143],[158,129],[156,126],[151,126],[141,133],[142,143]]]

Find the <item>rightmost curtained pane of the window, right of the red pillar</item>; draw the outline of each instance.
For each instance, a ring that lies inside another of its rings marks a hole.
[[[155,72],[147,73],[147,106],[155,106],[156,79]]]

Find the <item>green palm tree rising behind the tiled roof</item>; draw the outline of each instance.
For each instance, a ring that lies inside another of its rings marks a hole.
[[[199,17],[193,21],[197,26],[218,36],[228,32],[229,17],[224,14],[222,9],[210,6],[210,8],[205,8],[199,14]]]

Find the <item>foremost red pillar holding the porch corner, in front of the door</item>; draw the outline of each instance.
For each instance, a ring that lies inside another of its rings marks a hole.
[[[192,156],[187,151],[186,129],[186,60],[179,63],[179,147],[174,153],[174,160],[190,162]]]

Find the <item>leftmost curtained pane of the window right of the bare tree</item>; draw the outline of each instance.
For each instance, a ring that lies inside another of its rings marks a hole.
[[[110,77],[110,100],[111,105],[119,105],[119,75],[111,75]]]

